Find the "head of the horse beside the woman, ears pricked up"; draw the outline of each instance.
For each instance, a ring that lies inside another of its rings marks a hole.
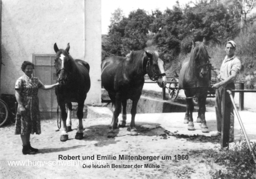
[[[54,67],[56,70],[56,76],[58,77],[58,82],[60,84],[67,84],[68,76],[71,72],[72,67],[72,57],[69,55],[69,43],[66,50],[59,49],[57,44],[54,44],[54,51],[56,52],[56,58],[54,60]]]

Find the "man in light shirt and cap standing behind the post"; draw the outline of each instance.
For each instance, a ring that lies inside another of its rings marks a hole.
[[[225,51],[226,57],[221,64],[220,74],[217,76],[220,82],[214,84],[212,88],[216,89],[215,97],[215,110],[216,110],[216,119],[217,119],[217,133],[212,134],[211,136],[219,136],[221,135],[221,119],[222,119],[222,111],[221,111],[221,102],[224,93],[224,88],[235,89],[234,82],[236,81],[236,77],[241,69],[241,62],[235,55],[236,43],[233,40],[230,40],[226,43]],[[232,93],[233,97],[235,93]],[[230,116],[230,131],[229,131],[229,142],[233,142],[234,140],[234,109],[233,106],[231,108],[231,116]]]

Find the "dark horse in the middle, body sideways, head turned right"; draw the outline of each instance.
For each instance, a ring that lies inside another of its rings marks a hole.
[[[126,104],[132,100],[131,135],[138,135],[135,128],[135,114],[144,85],[144,75],[148,74],[151,80],[157,81],[160,87],[166,85],[164,62],[158,52],[134,51],[124,57],[109,57],[101,63],[102,85],[115,105],[108,137],[114,137],[117,128],[118,116],[123,105],[123,120],[120,127],[126,125]]]

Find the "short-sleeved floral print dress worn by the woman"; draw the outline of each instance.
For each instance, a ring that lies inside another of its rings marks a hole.
[[[15,89],[19,89],[21,102],[25,108],[25,112],[20,112],[20,104],[18,105],[15,134],[40,134],[41,125],[39,119],[39,102],[38,89],[43,83],[36,77],[29,78],[27,75],[21,76],[15,83]]]

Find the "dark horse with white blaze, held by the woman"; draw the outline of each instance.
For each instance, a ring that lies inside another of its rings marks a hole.
[[[63,125],[60,141],[63,142],[68,140],[68,132],[72,131],[70,118],[70,112],[72,111],[71,102],[78,104],[76,113],[78,124],[75,138],[79,140],[83,139],[84,127],[82,118],[84,117],[84,100],[91,87],[89,64],[83,60],[74,60],[68,53],[69,48],[69,43],[66,50],[59,49],[57,44],[54,44],[54,51],[56,52],[54,66],[58,82],[60,83],[60,85],[55,88],[55,94],[61,110]],[[66,105],[68,114],[66,112]],[[68,121],[68,124],[66,124],[66,121]]]

